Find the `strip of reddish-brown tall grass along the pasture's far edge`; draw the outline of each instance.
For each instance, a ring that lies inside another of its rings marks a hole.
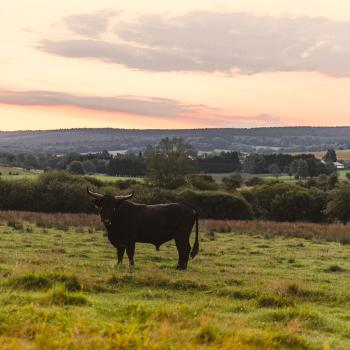
[[[0,211],[0,224],[22,227],[21,223],[34,223],[38,227],[66,230],[69,227],[103,230],[98,215],[33,213],[22,211]],[[289,223],[273,221],[234,221],[234,220],[201,220],[202,233],[215,239],[215,233],[237,233],[260,235],[265,238],[277,236],[298,237],[311,240],[339,242],[350,244],[349,226],[342,224]]]

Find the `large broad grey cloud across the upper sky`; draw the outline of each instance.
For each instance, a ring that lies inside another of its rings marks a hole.
[[[69,17],[66,25],[85,37],[43,40],[39,49],[148,71],[318,71],[350,76],[350,21],[250,13],[146,15],[128,21],[114,18],[97,40],[92,34],[107,30],[103,16],[110,20],[107,13]]]

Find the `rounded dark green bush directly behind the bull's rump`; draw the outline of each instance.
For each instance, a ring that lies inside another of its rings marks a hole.
[[[224,192],[195,192],[185,190],[177,196],[178,201],[195,208],[201,218],[250,220],[253,213],[247,201],[237,195]]]

